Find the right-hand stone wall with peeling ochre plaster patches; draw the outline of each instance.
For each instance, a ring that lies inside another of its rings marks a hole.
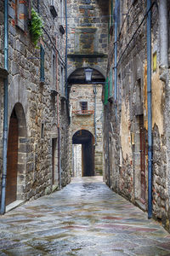
[[[146,21],[142,22],[145,12],[145,2],[135,1],[129,5],[129,1],[120,1],[117,101],[105,104],[104,148],[106,183],[134,204],[147,210],[147,51]],[[123,16],[122,14],[125,13],[128,15]],[[160,33],[158,6],[154,4],[151,35],[153,214],[169,229],[167,193],[169,144],[166,121],[167,109],[169,109],[169,92],[166,87],[168,88],[169,81],[166,67],[164,70],[160,67]],[[108,73],[115,65],[114,55],[112,55],[114,40],[113,31],[110,36],[109,55],[112,58],[108,59]],[[164,73],[164,79],[162,79],[162,73]],[[114,84],[114,72],[112,83]],[[112,95],[114,90],[113,86]]]

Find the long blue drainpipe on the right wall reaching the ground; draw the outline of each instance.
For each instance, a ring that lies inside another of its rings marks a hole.
[[[151,0],[147,0],[148,218],[152,218]]]

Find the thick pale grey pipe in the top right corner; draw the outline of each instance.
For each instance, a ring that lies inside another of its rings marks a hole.
[[[167,0],[159,3],[159,23],[160,23],[160,65],[168,67],[168,28],[167,28]]]

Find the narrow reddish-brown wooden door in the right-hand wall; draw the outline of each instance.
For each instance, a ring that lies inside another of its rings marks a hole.
[[[145,136],[144,115],[139,116],[140,128],[140,172],[141,172],[141,201],[145,202]]]

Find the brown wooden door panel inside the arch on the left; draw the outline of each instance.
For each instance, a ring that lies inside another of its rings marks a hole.
[[[18,119],[12,113],[8,130],[6,205],[16,201],[18,165]]]

